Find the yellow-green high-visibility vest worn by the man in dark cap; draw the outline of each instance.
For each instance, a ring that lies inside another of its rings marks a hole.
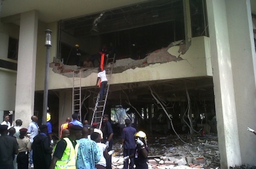
[[[76,169],[76,157],[78,152],[79,143],[76,144],[75,148],[73,147],[72,142],[68,138],[63,138],[66,143],[66,149],[62,155],[62,158],[57,160],[55,169]]]

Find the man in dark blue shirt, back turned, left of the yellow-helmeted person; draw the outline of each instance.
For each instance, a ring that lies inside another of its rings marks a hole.
[[[130,119],[125,119],[126,127],[122,129],[122,140],[121,147],[124,145],[124,169],[128,168],[129,156],[135,153],[136,143],[134,139],[134,134],[136,133],[136,129],[131,125]],[[134,158],[130,158],[129,169],[134,169]]]

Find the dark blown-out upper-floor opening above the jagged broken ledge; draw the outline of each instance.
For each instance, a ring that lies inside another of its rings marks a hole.
[[[150,1],[60,21],[58,57],[71,64],[67,48],[76,41],[89,46],[81,48],[81,62],[97,54],[103,44],[110,47],[110,43],[116,48],[117,59],[143,59],[173,41],[185,39],[183,2]],[[205,0],[190,1],[189,8],[192,37],[208,36]]]

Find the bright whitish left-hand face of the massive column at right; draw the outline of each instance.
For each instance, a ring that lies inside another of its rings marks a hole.
[[[226,2],[207,1],[221,168],[241,165]]]

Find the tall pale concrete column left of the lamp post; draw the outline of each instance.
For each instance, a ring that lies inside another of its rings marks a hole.
[[[21,13],[15,120],[21,119],[25,128],[34,114],[35,60],[38,34],[36,11]]]

